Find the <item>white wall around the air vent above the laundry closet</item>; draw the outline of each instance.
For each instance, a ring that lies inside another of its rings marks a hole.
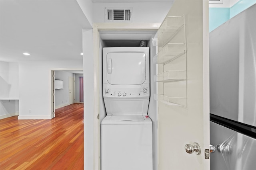
[[[169,2],[94,3],[93,22],[105,22],[105,7],[132,7],[132,22],[162,22],[170,10]]]

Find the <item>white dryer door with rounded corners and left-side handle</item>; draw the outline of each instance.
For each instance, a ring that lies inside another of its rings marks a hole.
[[[113,85],[137,85],[146,80],[145,53],[108,53],[107,80]]]

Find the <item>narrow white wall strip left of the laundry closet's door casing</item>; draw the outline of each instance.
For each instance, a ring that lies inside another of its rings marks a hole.
[[[94,63],[92,29],[83,29],[84,169],[94,170]]]

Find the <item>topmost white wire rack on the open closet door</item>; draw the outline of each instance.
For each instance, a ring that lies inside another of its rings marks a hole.
[[[184,16],[166,17],[158,29],[158,43],[168,42],[184,27]]]

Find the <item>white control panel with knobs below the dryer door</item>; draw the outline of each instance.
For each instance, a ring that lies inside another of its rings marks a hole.
[[[113,87],[113,86],[106,85],[103,87],[104,97],[136,98],[136,97],[149,97],[149,95],[150,95],[149,86],[128,88],[128,86]]]

